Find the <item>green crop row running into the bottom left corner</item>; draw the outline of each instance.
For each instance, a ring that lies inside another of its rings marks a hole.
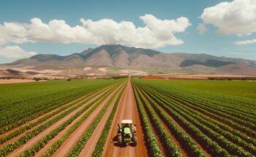
[[[20,147],[20,145],[25,144],[28,142],[32,137],[37,136],[40,132],[51,126],[52,124],[56,123],[56,121],[59,121],[61,118],[64,118],[67,116],[69,113],[72,113],[72,111],[76,110],[78,107],[82,106],[84,102],[81,102],[79,105],[76,105],[69,110],[65,111],[64,113],[61,113],[61,115],[56,116],[55,118],[51,119],[48,121],[46,124],[42,124],[41,126],[38,126],[36,129],[34,129],[31,132],[26,133],[23,137],[20,137],[20,139],[16,140],[15,142],[12,142],[9,145],[4,146],[0,150],[0,156],[6,156],[8,153],[11,153],[13,150],[16,148]]]

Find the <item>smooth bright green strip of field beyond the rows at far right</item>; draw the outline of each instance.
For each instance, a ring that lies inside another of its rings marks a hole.
[[[172,89],[187,90],[191,92],[207,92],[214,94],[226,94],[238,97],[250,97],[256,99],[256,81],[211,81],[211,80],[170,80],[154,81],[152,84],[168,86]]]

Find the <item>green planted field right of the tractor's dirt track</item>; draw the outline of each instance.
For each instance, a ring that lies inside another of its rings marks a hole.
[[[256,154],[256,82],[133,79],[133,86],[154,156]]]

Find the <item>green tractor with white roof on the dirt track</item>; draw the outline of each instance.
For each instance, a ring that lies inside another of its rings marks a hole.
[[[117,138],[119,145],[137,145],[136,125],[132,124],[132,120],[124,119],[118,124]]]

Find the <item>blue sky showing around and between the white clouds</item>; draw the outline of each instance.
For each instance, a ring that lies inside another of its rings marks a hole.
[[[238,0],[241,1],[241,0]],[[247,1],[247,0],[244,0]],[[252,3],[252,0],[248,0]],[[4,23],[31,23],[31,19],[34,17],[42,20],[42,23],[48,24],[50,20],[64,20],[70,27],[75,27],[75,25],[82,25],[80,19],[85,20],[91,19],[92,21],[98,21],[102,19],[111,19],[116,23],[121,23],[121,21],[129,21],[138,27],[145,27],[145,21],[141,20],[140,17],[144,15],[153,15],[159,20],[176,20],[179,17],[186,17],[189,20],[190,25],[187,24],[184,31],[174,32],[173,35],[180,39],[183,44],[163,44],[168,41],[159,41],[161,46],[155,45],[152,49],[157,49],[161,52],[187,52],[187,53],[205,53],[208,55],[226,56],[226,57],[242,57],[246,59],[256,60],[256,39],[254,25],[249,25],[252,30],[246,30],[241,32],[243,28],[248,28],[248,25],[241,24],[236,31],[229,32],[225,28],[219,26],[222,20],[225,23],[225,15],[219,21],[213,21],[213,18],[209,15],[211,12],[205,12],[205,19],[200,18],[203,14],[204,9],[208,7],[214,7],[224,1],[214,0],[162,0],[162,1],[78,1],[78,0],[44,0],[44,1],[29,1],[29,0],[7,0],[1,1],[0,4],[0,37],[1,37],[1,26]],[[230,2],[230,8],[232,7]],[[255,2],[256,4],[256,2]],[[235,5],[235,3],[234,3]],[[214,8],[216,11],[219,8]],[[235,10],[234,12],[236,12]],[[230,10],[231,14],[233,13]],[[249,12],[249,11],[248,11]],[[231,16],[232,17],[232,16]],[[256,23],[256,18],[252,17],[251,22]],[[233,23],[238,23],[241,21],[239,17],[232,18]],[[210,22],[209,22],[210,21]],[[206,25],[207,31],[200,35],[197,31],[197,25],[199,23],[204,23]],[[249,20],[250,24],[250,20]],[[186,24],[185,24],[186,25]],[[7,26],[6,26],[7,27]],[[150,26],[149,26],[150,27]],[[224,26],[223,26],[224,27]],[[225,30],[223,33],[217,32],[219,29]],[[4,29],[3,29],[4,30]],[[232,28],[230,28],[232,30]],[[168,30],[167,30],[168,31]],[[167,32],[166,31],[166,32]],[[11,32],[11,31],[10,31]],[[154,34],[159,30],[152,31]],[[245,32],[245,33],[244,33]],[[13,33],[7,34],[5,36],[14,36]],[[28,35],[29,36],[29,35]],[[26,38],[29,38],[26,36]],[[156,35],[158,37],[158,35]],[[172,36],[172,35],[170,35]],[[168,36],[168,38],[171,38]],[[147,36],[143,36],[146,38]],[[155,36],[154,36],[155,37]],[[2,37],[7,38],[7,37]],[[15,37],[13,37],[15,38]],[[68,44],[64,44],[65,41],[58,41],[59,39],[29,39],[30,41],[16,42],[14,39],[8,41],[0,41],[0,63],[9,63],[13,60],[20,58],[20,55],[12,54],[7,56],[7,51],[12,51],[12,53],[23,54],[26,52],[30,55],[37,54],[58,54],[58,55],[68,55],[74,52],[82,52],[83,49],[89,47],[98,47],[97,41],[93,43],[88,43],[88,41],[71,41]],[[126,38],[126,36],[124,36]],[[151,38],[151,36],[148,36]],[[32,40],[32,41],[31,41]],[[54,41],[52,41],[54,40]],[[252,41],[252,44],[235,44],[236,41]],[[111,44],[113,41],[110,41]],[[138,41],[140,42],[140,41]],[[170,41],[171,43],[172,41]],[[95,44],[96,43],[96,44]],[[131,41],[127,41],[128,46],[134,46]],[[108,43],[105,43],[108,44]],[[113,44],[118,44],[115,41]],[[121,44],[126,44],[124,41]],[[135,43],[138,47],[141,43]],[[148,43],[147,43],[148,44]],[[141,44],[142,45],[142,44]],[[143,44],[144,45],[144,44]],[[149,43],[150,45],[150,43]],[[8,49],[7,49],[8,47]],[[17,47],[19,49],[17,49]],[[145,46],[146,47],[146,46]],[[2,54],[1,55],[1,50]],[[26,55],[25,55],[26,56]]]

